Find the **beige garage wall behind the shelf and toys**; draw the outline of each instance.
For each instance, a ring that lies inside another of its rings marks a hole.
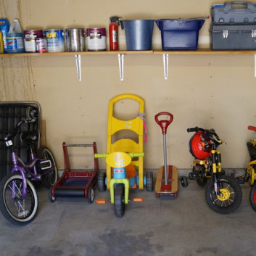
[[[178,18],[210,15],[205,1],[86,1],[0,0],[0,16],[19,18],[28,28],[108,27],[109,17]],[[210,20],[200,30],[200,47],[209,47]],[[160,30],[154,25],[153,48],[161,49]],[[120,49],[125,37],[120,31]],[[125,56],[123,83],[116,55],[81,56],[82,81],[77,79],[75,57],[0,57],[0,100],[33,100],[41,104],[47,144],[63,168],[62,141],[91,143],[99,152],[107,143],[109,100],[118,94],[138,94],[145,100],[148,143],[146,168],[163,164],[162,133],[154,122],[160,111],[173,113],[168,128],[168,163],[190,168],[191,134],[195,125],[215,128],[227,142],[221,146],[223,166],[244,168],[249,161],[246,141],[253,137],[247,125],[256,125],[253,54],[170,55],[169,78],[164,80],[162,55]],[[101,168],[104,168],[102,162]]]

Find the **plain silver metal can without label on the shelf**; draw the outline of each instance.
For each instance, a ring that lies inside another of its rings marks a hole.
[[[83,28],[66,28],[67,51],[85,51],[85,32]]]

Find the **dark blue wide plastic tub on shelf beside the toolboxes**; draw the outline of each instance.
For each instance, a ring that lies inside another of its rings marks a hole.
[[[156,20],[163,50],[197,50],[199,30],[205,20]]]

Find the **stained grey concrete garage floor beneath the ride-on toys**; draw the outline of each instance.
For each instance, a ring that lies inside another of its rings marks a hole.
[[[256,212],[249,205],[249,185],[241,185],[243,200],[236,212],[219,215],[206,205],[196,181],[176,199],[133,191],[125,216],[116,218],[113,205],[89,204],[83,198],[48,201],[38,190],[38,215],[28,226],[13,226],[0,215],[1,256],[115,255],[256,255]],[[108,197],[109,191],[96,199]]]

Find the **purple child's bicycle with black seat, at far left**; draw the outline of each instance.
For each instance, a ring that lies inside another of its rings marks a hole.
[[[58,178],[57,165],[53,154],[46,146],[41,146],[35,153],[33,144],[38,140],[39,131],[26,131],[21,133],[21,141],[28,144],[30,159],[25,164],[13,145],[18,128],[24,123],[33,123],[34,118],[20,121],[12,134],[4,136],[4,141],[10,149],[12,157],[12,172],[7,174],[0,183],[0,210],[4,218],[11,223],[25,225],[36,218],[38,210],[38,196],[36,183],[42,181],[49,188]]]

